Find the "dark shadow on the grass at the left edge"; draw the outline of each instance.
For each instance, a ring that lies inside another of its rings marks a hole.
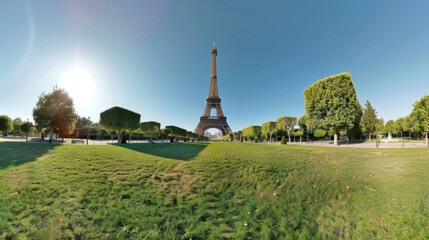
[[[0,142],[0,170],[35,161],[57,144]]]

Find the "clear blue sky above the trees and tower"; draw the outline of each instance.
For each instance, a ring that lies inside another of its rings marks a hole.
[[[233,131],[304,115],[304,89],[340,72],[362,106],[396,119],[429,92],[428,12],[426,0],[2,1],[0,114],[32,120],[58,85],[80,116],[121,106],[193,131],[215,41]],[[87,79],[73,85],[76,65]]]

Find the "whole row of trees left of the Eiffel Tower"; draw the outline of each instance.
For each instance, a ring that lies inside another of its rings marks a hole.
[[[73,99],[61,88],[54,87],[50,93],[42,93],[33,108],[34,123],[21,118],[12,120],[7,115],[0,116],[0,133],[3,135],[33,135],[39,133],[40,139],[49,135],[52,142],[57,138],[117,139],[118,143],[131,140],[158,139],[198,140],[200,137],[176,126],[166,126],[156,121],[140,122],[140,114],[121,107],[112,107],[100,113],[100,122],[79,116]]]

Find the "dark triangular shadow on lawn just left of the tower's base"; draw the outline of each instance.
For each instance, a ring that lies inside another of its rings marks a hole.
[[[115,144],[134,151],[176,160],[188,161],[196,157],[209,143],[140,143]]]

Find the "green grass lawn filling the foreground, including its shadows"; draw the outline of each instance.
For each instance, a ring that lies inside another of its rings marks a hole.
[[[0,143],[0,239],[429,238],[429,150]]]

